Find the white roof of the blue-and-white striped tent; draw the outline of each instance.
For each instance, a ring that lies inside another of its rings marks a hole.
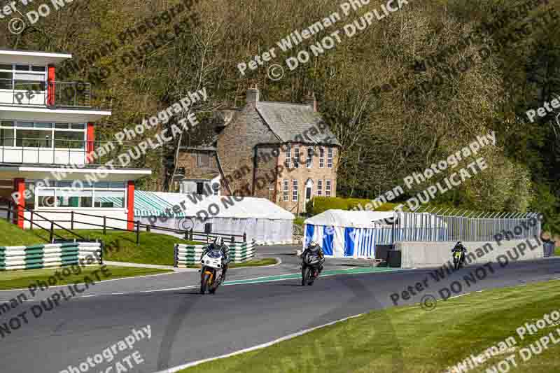
[[[327,210],[312,216],[304,221],[305,224],[328,225],[333,227],[373,227],[373,221],[377,224],[386,225],[383,219],[393,218],[393,211],[346,211]]]

